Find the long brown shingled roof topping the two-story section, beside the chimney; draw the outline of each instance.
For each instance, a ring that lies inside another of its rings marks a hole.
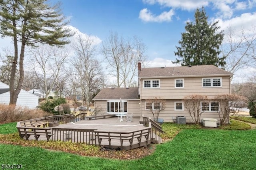
[[[214,65],[193,65],[179,67],[153,67],[141,68],[139,77],[191,77],[191,76],[232,75]]]

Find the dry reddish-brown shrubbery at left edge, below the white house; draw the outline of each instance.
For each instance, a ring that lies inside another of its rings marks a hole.
[[[24,121],[46,116],[50,116],[50,114],[38,109],[0,104],[0,123]]]

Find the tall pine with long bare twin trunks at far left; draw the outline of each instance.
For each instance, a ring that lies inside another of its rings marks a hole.
[[[68,22],[60,14],[60,3],[51,5],[48,0],[0,0],[0,7],[0,34],[11,37],[14,44],[10,105],[16,105],[24,80],[25,47],[35,46],[36,43],[65,45],[69,42],[64,38],[72,36],[72,33],[65,27]],[[19,80],[16,86],[14,81],[17,66]]]

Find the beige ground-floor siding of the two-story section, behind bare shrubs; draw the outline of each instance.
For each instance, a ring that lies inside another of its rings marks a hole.
[[[164,122],[173,122],[176,121],[176,116],[184,116],[186,117],[187,123],[194,123],[192,117],[190,117],[188,111],[184,107],[184,111],[174,111],[174,102],[181,102],[182,100],[166,100],[166,105],[164,111],[160,112],[159,119],[164,119]],[[142,100],[142,115],[151,117],[153,119],[153,115],[150,111],[145,111],[145,102],[146,100]],[[172,119],[174,118],[174,119]],[[205,112],[201,115],[201,120],[203,118],[213,118],[217,119],[220,122],[219,116],[217,112]]]

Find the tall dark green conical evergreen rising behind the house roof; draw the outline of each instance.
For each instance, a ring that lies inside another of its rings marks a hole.
[[[182,33],[182,40],[179,41],[180,47],[176,46],[176,59],[173,63],[181,65],[215,65],[224,67],[225,57],[218,57],[220,45],[223,40],[223,32],[218,31],[218,22],[208,24],[208,16],[204,7],[196,9],[195,22],[187,22],[186,32]]]

